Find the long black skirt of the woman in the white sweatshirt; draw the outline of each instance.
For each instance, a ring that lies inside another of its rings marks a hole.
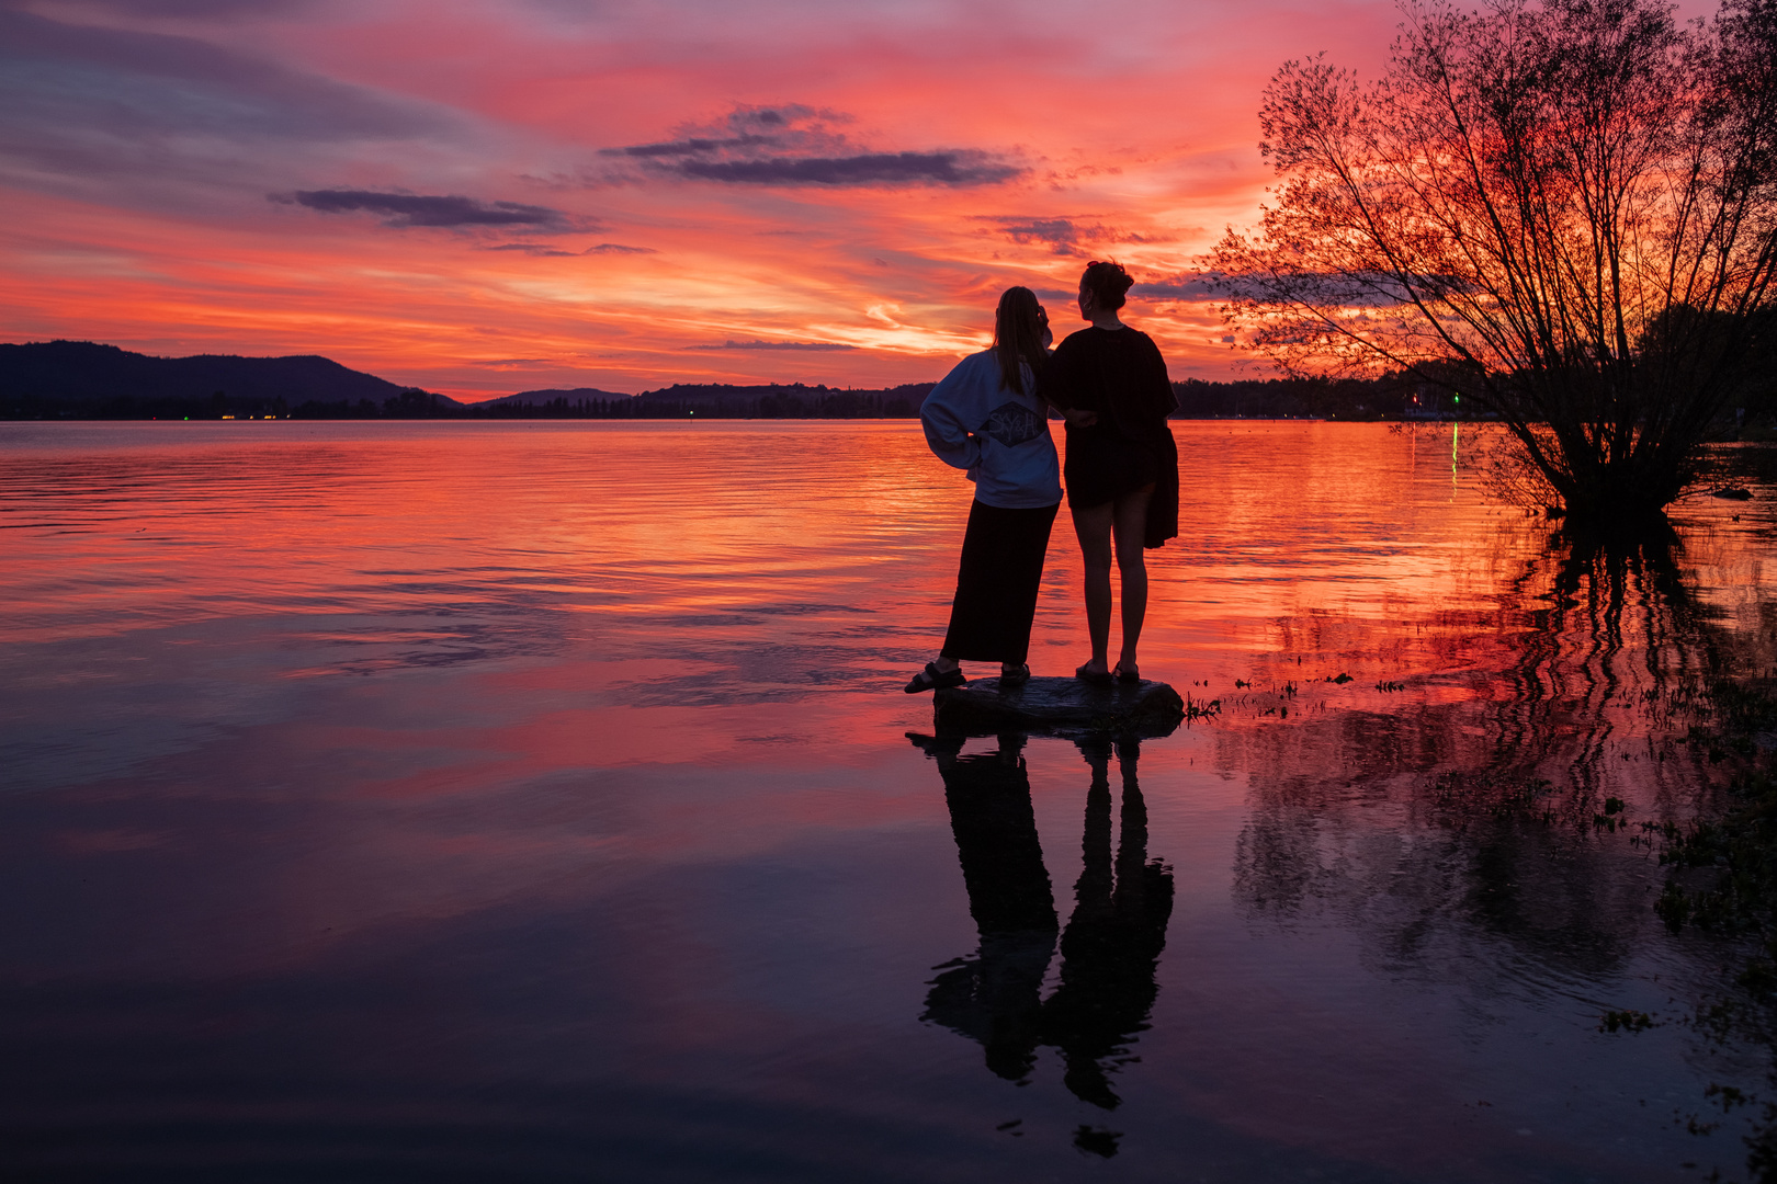
[[[1025,660],[1057,509],[1059,502],[1002,509],[981,501],[968,508],[951,630],[944,635],[945,657],[958,662]]]

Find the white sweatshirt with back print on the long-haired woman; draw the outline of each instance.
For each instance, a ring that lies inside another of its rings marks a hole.
[[[1000,382],[999,357],[983,350],[958,362],[919,405],[931,451],[945,465],[967,469],[976,499],[1000,509],[1061,501],[1061,463],[1029,366],[1024,389],[1009,391]]]

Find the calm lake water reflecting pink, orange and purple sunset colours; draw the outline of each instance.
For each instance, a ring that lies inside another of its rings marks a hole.
[[[5,1173],[1743,1177],[1638,824],[1777,666],[1772,451],[1619,554],[1471,426],[1176,435],[1221,712],[1137,753],[922,738],[913,422],[0,424]]]

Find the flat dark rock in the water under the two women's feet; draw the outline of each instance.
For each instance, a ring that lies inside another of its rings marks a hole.
[[[931,712],[938,735],[1116,731],[1166,737],[1185,719],[1185,701],[1164,682],[1146,678],[1112,685],[1032,678],[1013,687],[1000,687],[999,678],[981,678],[933,694]]]

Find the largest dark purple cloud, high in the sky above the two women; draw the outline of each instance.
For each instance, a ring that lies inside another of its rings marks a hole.
[[[1025,172],[1002,154],[974,147],[878,151],[855,144],[842,112],[810,107],[739,107],[716,126],[679,138],[601,149],[649,176],[727,185],[999,185]]]

